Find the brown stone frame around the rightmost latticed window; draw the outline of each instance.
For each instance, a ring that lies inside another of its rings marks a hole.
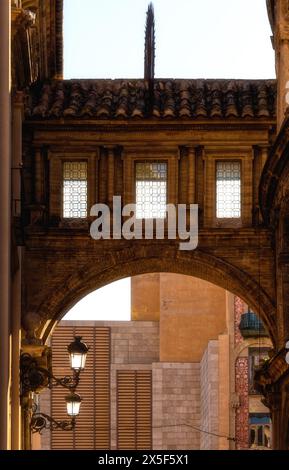
[[[204,226],[215,228],[241,228],[252,226],[253,210],[253,152],[252,147],[239,149],[204,149]],[[241,164],[241,217],[217,218],[217,181],[218,161],[238,161]]]

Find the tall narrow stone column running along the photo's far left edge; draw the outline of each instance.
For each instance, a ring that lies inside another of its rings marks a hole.
[[[10,1],[0,2],[0,449],[9,448]]]

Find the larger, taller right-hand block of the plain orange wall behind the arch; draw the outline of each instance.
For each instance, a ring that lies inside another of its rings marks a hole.
[[[160,274],[160,360],[200,362],[226,333],[226,291],[180,274]]]

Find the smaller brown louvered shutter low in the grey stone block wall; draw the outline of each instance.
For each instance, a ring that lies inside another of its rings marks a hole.
[[[117,372],[117,448],[152,448],[152,374]]]

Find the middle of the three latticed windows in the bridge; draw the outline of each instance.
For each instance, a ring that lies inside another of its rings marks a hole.
[[[136,163],[136,217],[163,219],[167,204],[167,164]]]

